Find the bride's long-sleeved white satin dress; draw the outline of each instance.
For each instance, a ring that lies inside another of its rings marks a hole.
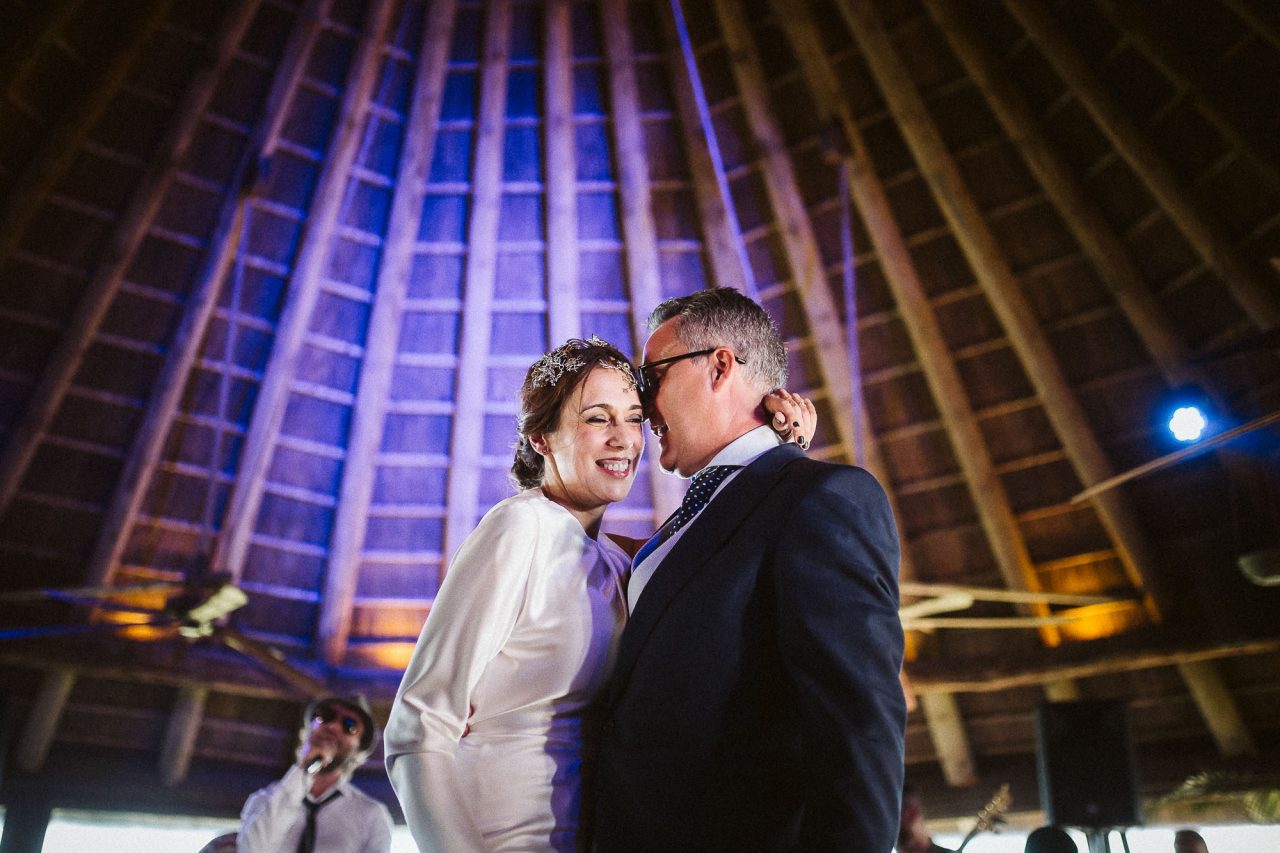
[[[420,845],[575,849],[582,713],[613,666],[628,569],[541,489],[498,503],[467,537],[384,734]]]

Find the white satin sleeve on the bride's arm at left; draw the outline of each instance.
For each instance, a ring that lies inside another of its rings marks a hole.
[[[462,543],[435,597],[392,706],[387,774],[419,849],[484,850],[454,752],[476,683],[520,616],[538,544],[532,507],[494,507]]]

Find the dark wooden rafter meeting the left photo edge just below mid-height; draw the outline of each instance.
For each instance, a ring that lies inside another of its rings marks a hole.
[[[64,4],[67,5],[67,4]],[[27,398],[22,416],[14,424],[0,455],[0,512],[13,500],[22,478],[40,447],[58,407],[84,360],[102,320],[119,291],[120,282],[133,256],[147,236],[165,193],[178,174],[178,167],[196,138],[205,109],[236,56],[244,31],[257,8],[257,0],[239,0],[227,14],[215,44],[207,51],[209,61],[192,77],[174,114],[165,138],[156,146],[146,174],[138,182],[129,202],[115,223],[111,241],[93,269],[76,313],[63,330],[58,347],[45,362],[40,379]]]

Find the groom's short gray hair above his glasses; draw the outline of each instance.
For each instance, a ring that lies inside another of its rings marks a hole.
[[[787,350],[764,309],[732,287],[713,287],[660,302],[649,330],[672,318],[676,336],[692,350],[728,347],[746,361],[746,375],[760,396],[787,384]]]

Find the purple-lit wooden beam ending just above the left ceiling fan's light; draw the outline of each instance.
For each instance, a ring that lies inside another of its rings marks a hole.
[[[324,4],[320,12],[326,13],[328,5]],[[392,0],[379,0],[367,8],[364,29],[347,72],[338,114],[329,134],[329,150],[316,182],[305,236],[289,277],[287,301],[276,324],[271,355],[244,435],[237,485],[232,491],[214,551],[214,567],[228,573],[232,578],[239,578],[244,570],[244,557],[262,502],[275,439],[288,407],[291,384],[302,355],[311,313],[319,300],[320,282],[324,278],[332,236],[347,192],[351,168],[360,152],[360,123],[372,102],[374,87],[381,70],[378,58],[383,50],[383,38],[393,6]],[[278,92],[288,97],[297,91],[305,70],[305,55],[300,55],[296,64],[276,70]],[[279,120],[283,120],[283,114],[287,113],[287,97],[276,104]],[[273,150],[276,138],[278,136],[270,137]]]

